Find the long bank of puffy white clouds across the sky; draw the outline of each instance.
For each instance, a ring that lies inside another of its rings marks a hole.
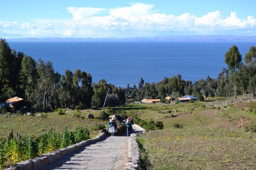
[[[3,22],[0,21],[0,31],[4,33],[20,33],[25,37],[32,36],[74,36],[74,37],[104,37],[120,36],[157,36],[164,32],[197,32],[220,33],[236,31],[241,34],[256,34],[256,19],[248,16],[240,19],[236,12],[225,17],[221,11],[213,11],[197,17],[189,13],[180,16],[161,14],[153,11],[152,4],[131,4],[129,7],[110,9],[107,16],[94,16],[106,9],[68,7],[73,14],[70,20],[43,20],[34,22]],[[107,32],[106,32],[107,31]],[[212,32],[214,31],[214,32]],[[169,35],[169,34],[168,34]],[[175,34],[174,34],[175,35]]]

